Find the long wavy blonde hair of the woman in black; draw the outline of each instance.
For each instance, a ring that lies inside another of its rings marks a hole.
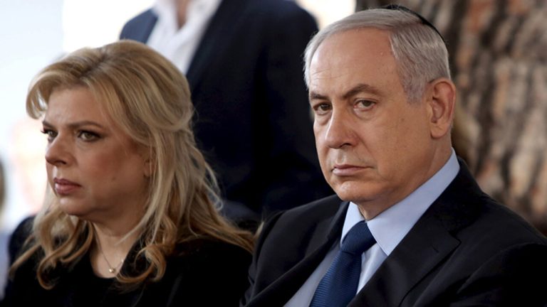
[[[145,257],[147,266],[135,276],[118,274],[121,284],[161,279],[175,244],[198,237],[251,251],[251,234],[219,215],[214,173],[194,141],[188,82],[169,60],[134,41],[77,50],[38,73],[26,99],[27,113],[41,117],[52,92],[72,87],[90,90],[132,140],[150,149],[147,205],[132,230],[140,235],[137,258]],[[77,262],[92,246],[94,231],[90,222],[62,212],[51,187],[48,190],[27,240],[29,247],[11,271],[40,252],[38,281],[51,289],[54,280],[48,272]]]

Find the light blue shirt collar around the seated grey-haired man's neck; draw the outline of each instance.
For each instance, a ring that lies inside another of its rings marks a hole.
[[[429,180],[420,185],[419,188],[399,203],[392,205],[384,212],[367,221],[370,232],[386,255],[389,256],[393,252],[393,249],[407,235],[427,208],[456,178],[458,172],[459,163],[456,153],[452,149],[452,154],[447,163]],[[355,203],[350,203],[348,212],[345,215],[340,244],[351,227],[362,220],[365,220],[365,218],[359,212],[358,206]]]

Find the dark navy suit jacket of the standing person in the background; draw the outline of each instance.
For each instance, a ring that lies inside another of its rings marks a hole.
[[[120,38],[145,43],[156,21],[145,11]],[[222,1],[189,66],[199,146],[224,196],[255,212],[332,193],[319,171],[302,74],[316,31],[293,1]]]

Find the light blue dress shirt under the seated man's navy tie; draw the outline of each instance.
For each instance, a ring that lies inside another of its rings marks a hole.
[[[429,178],[428,181],[420,185],[419,188],[399,203],[392,205],[392,207],[367,221],[368,228],[376,243],[361,256],[361,274],[357,292],[363,289],[363,286],[367,284],[380,264],[393,252],[393,249],[397,247],[402,238],[407,235],[434,200],[439,198],[439,195],[456,178],[458,171],[459,163],[454,149],[452,149],[452,155],[447,163],[432,178]],[[336,253],[340,250],[343,238],[348,234],[351,227],[362,220],[365,220],[365,218],[360,214],[358,206],[355,203],[350,203],[348,212],[345,215],[340,244],[335,244],[330,249],[323,262],[319,264],[285,306],[303,307],[310,305],[313,293],[315,293],[319,281],[321,281],[333,262]]]

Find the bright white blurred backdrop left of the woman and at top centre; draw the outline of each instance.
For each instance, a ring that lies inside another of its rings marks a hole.
[[[4,232],[38,210],[46,188],[46,139],[40,133],[41,124],[25,113],[32,77],[65,53],[116,41],[123,24],[153,2],[0,0],[0,161],[6,177],[0,229]],[[300,4],[321,25],[355,9],[355,1],[306,0]]]

